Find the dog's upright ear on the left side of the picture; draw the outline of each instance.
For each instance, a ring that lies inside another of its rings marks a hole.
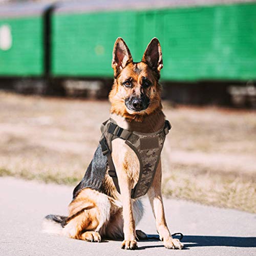
[[[123,38],[118,37],[114,45],[112,60],[112,68],[114,69],[115,78],[125,68],[125,66],[132,61],[133,58],[131,52],[125,44],[125,41]]]

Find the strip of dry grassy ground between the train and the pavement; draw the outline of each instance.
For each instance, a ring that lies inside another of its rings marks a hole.
[[[108,101],[0,92],[0,175],[76,184],[109,117]],[[172,123],[163,192],[256,212],[256,112],[164,102]]]

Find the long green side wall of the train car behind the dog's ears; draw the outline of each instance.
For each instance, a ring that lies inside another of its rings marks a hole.
[[[52,74],[112,77],[112,50],[124,38],[135,61],[158,37],[163,80],[256,79],[256,4],[168,10],[56,13]]]

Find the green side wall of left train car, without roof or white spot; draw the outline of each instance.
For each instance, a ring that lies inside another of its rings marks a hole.
[[[44,23],[38,17],[0,18],[0,27],[11,28],[12,46],[0,49],[0,76],[44,74]]]

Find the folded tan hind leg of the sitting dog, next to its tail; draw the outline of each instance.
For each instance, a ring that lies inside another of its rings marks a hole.
[[[99,242],[110,218],[108,197],[90,188],[83,189],[69,205],[70,215],[62,234],[67,237]]]

